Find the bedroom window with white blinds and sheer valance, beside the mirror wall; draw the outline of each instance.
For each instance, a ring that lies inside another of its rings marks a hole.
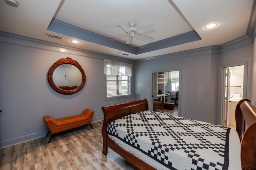
[[[132,64],[104,60],[106,75],[106,98],[130,95],[130,77]]]

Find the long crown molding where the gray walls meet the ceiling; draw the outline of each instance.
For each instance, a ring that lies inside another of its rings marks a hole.
[[[208,47],[201,47],[197,49],[190,49],[185,51],[179,51],[175,53],[168,53],[164,55],[158,55],[154,57],[148,57],[145,59],[138,59],[138,60],[131,60],[131,59],[124,59],[121,57],[116,57],[112,55],[106,55],[103,53],[98,53],[94,51],[88,51],[84,49],[78,49],[75,47],[69,47],[66,45],[60,45],[57,43],[52,43],[49,41],[43,41],[39,39],[34,39],[30,37],[24,37],[22,35],[16,35],[12,33],[7,33],[0,31],[0,43],[10,43],[14,45],[21,45],[26,47],[32,47],[37,49],[46,49],[50,51],[56,51],[61,53],[68,53],[73,55],[80,55],[83,57],[92,57],[97,59],[109,59],[109,60],[115,60],[125,63],[131,63],[131,64],[139,64],[139,63],[149,63],[149,62],[157,62],[157,61],[167,61],[172,59],[178,59],[178,58],[185,58],[185,57],[194,57],[198,55],[208,55],[208,54],[220,54],[224,53],[233,49],[237,49],[240,47],[244,47],[246,45],[252,45],[251,44],[251,38],[247,35],[244,35],[240,38],[234,39],[232,41],[229,41],[227,43],[224,43],[222,45],[213,45]],[[65,49],[65,51],[63,51]]]

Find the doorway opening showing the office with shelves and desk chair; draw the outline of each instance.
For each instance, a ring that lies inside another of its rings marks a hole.
[[[152,71],[152,110],[162,112],[158,106],[162,102],[164,113],[180,115],[180,80],[179,69]]]

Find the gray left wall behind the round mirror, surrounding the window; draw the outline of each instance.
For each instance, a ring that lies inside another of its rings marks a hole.
[[[25,40],[0,35],[0,147],[45,136],[44,115],[61,118],[89,108],[95,111],[93,121],[98,121],[103,119],[102,106],[134,101],[134,76],[131,97],[105,100],[103,71],[104,59],[134,61],[18,37]],[[52,64],[66,57],[78,61],[86,74],[86,84],[72,95],[58,94],[47,80]]]

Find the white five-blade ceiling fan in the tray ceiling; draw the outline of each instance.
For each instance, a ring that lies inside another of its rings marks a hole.
[[[128,22],[129,24],[129,28],[126,27],[126,25],[124,25],[124,23],[122,22],[116,22],[117,26],[119,28],[121,28],[125,33],[123,34],[112,34],[112,35],[107,35],[107,37],[122,37],[122,36],[127,36],[128,39],[126,41],[126,44],[131,44],[132,43],[132,39],[134,37],[140,38],[140,39],[145,39],[148,41],[153,41],[153,37],[148,37],[146,35],[142,35],[141,33],[147,32],[147,31],[151,31],[155,29],[155,26],[150,24],[146,27],[142,27],[140,29],[136,29],[134,26],[136,25],[135,21],[130,21]]]

